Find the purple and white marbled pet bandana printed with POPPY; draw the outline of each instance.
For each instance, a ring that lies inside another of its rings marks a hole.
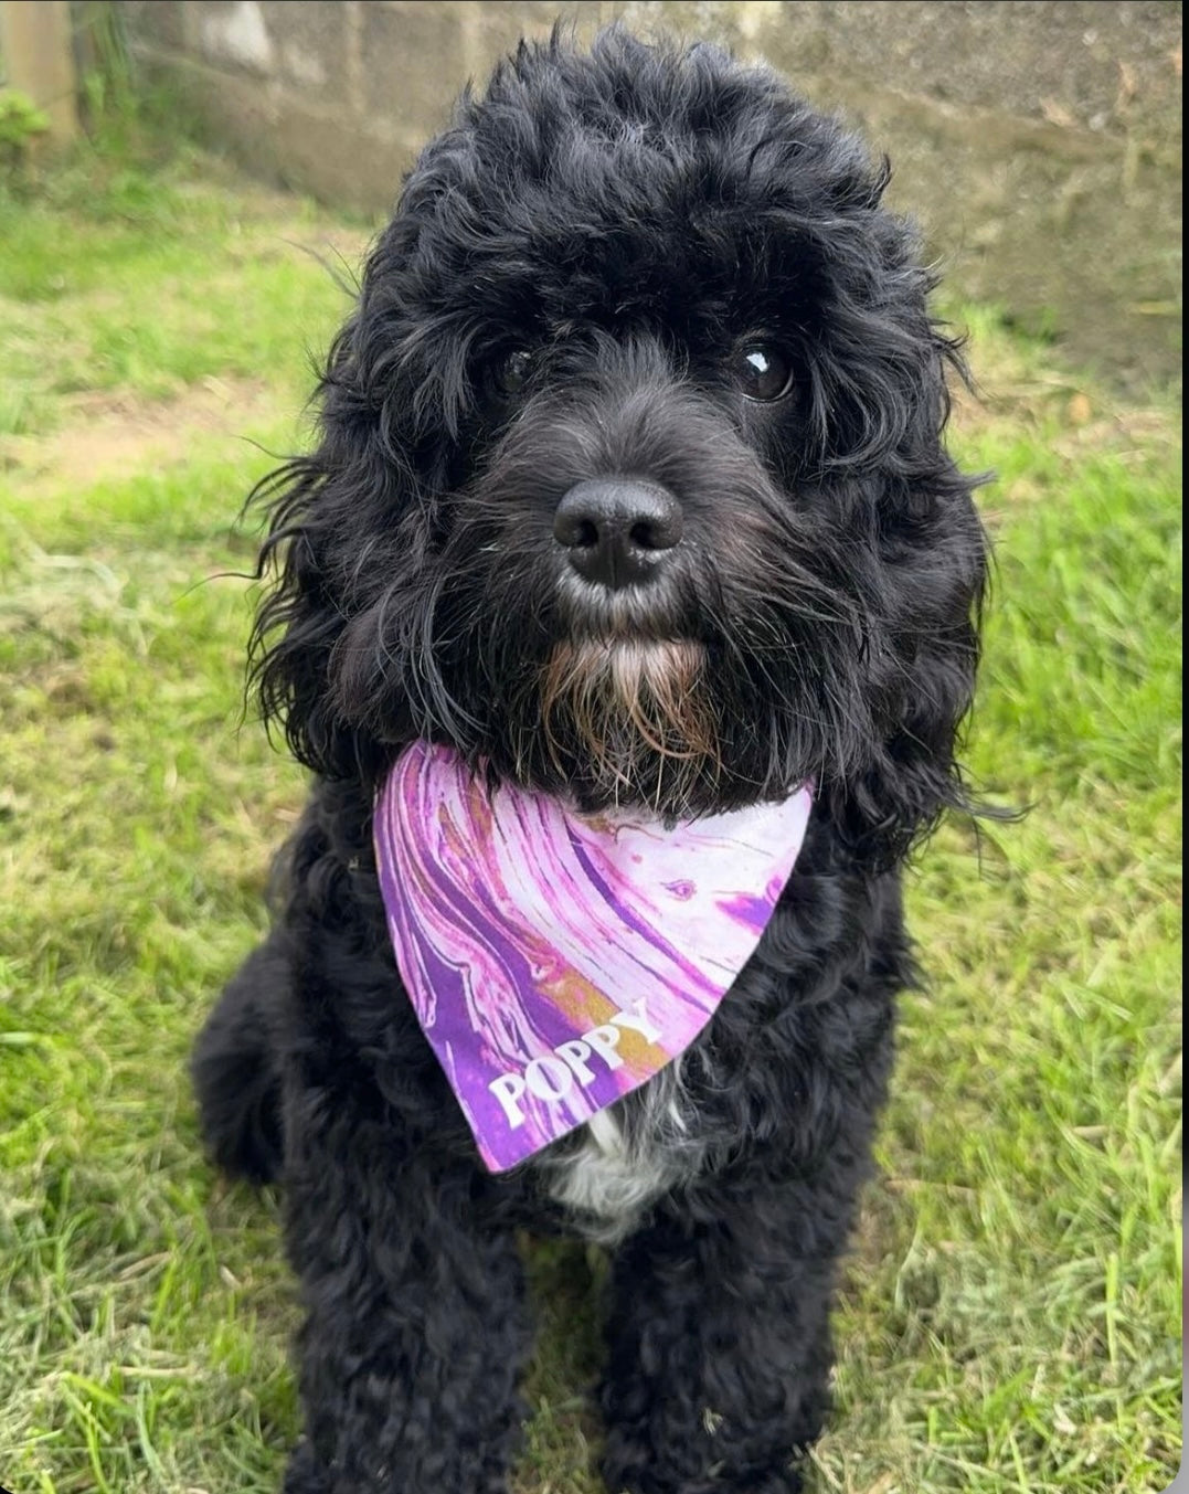
[[[698,1037],[789,880],[810,790],[665,829],[490,792],[414,743],[375,805],[396,962],[491,1171]]]

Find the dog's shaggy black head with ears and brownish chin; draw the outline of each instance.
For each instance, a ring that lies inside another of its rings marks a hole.
[[[962,801],[984,542],[886,169],[765,70],[521,45],[421,155],[272,480],[266,713],[677,817]]]

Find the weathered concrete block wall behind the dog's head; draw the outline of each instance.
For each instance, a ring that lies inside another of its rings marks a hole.
[[[960,296],[1135,382],[1180,365],[1182,7],[1170,0],[122,0],[134,57],[248,166],[382,214],[520,34],[617,16],[765,57],[896,169]]]

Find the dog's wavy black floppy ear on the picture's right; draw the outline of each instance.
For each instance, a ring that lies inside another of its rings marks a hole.
[[[842,838],[865,859],[892,865],[947,808],[986,813],[963,783],[957,753],[989,571],[971,495],[987,478],[960,472],[946,451],[946,369],[963,379],[966,372],[959,345],[929,323],[923,297],[899,326],[869,323],[859,345],[878,365],[860,481],[872,499],[866,668],[880,710],[865,768],[825,798]]]

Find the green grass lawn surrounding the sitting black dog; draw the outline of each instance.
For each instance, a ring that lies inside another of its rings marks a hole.
[[[0,1482],[273,1490],[273,1198],[200,1159],[191,1035],[302,775],[239,723],[249,542],[363,233],[199,158],[0,194]],[[881,1176],[817,1494],[1140,1494],[1180,1455],[1180,450],[972,311],[999,575],[971,763],[1020,823],[911,878]],[[242,439],[248,438],[248,439]],[[518,1494],[593,1494],[600,1262],[539,1250]],[[448,1491],[444,1491],[448,1494]]]

